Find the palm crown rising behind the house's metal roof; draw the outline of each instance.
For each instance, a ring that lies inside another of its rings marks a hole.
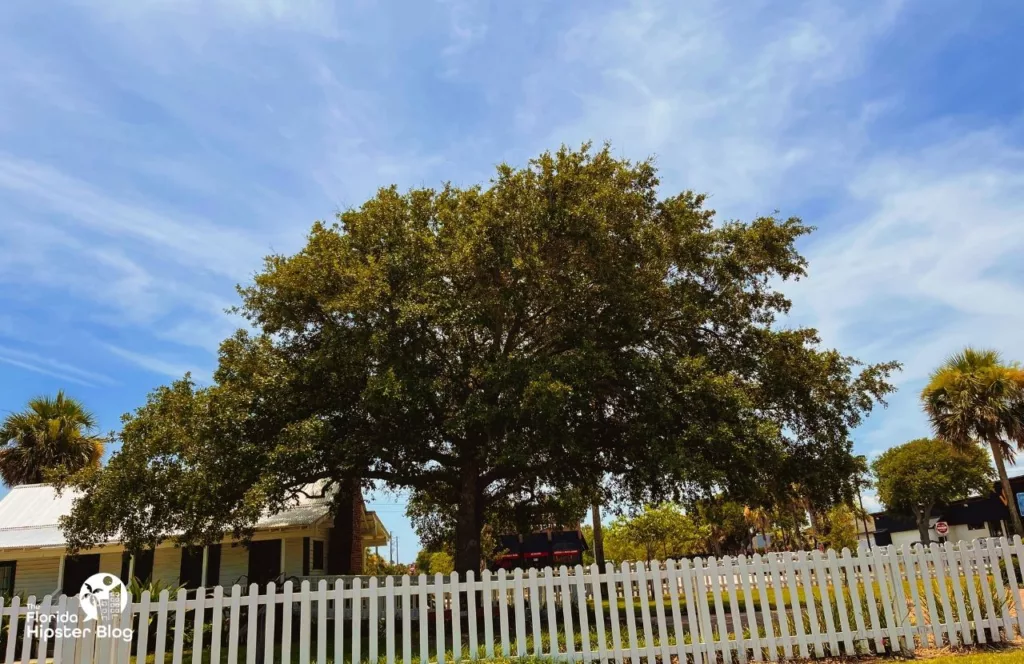
[[[58,391],[38,397],[0,425],[0,479],[8,486],[39,484],[48,471],[97,467],[106,439],[82,404]]]

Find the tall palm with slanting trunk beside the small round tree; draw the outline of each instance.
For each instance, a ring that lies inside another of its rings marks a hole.
[[[1024,447],[1024,370],[1004,364],[995,350],[968,347],[932,374],[921,398],[940,439],[989,447],[1014,531],[1024,536],[1006,465]]]

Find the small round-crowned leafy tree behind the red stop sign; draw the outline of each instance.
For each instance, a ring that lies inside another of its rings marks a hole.
[[[957,450],[933,439],[918,439],[887,450],[871,465],[879,500],[895,513],[912,515],[927,543],[932,509],[989,488],[992,466],[979,447]]]

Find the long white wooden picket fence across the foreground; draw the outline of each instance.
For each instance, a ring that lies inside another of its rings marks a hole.
[[[694,558],[588,570],[291,582],[143,593],[116,619],[130,638],[86,627],[78,599],[0,605],[4,664],[402,662],[526,655],[649,664],[780,661],[1024,635],[1020,538]],[[348,586],[348,587],[346,587]],[[339,611],[339,609],[341,611]],[[77,619],[78,622],[71,623]],[[140,628],[141,625],[141,628]],[[11,635],[14,635],[13,637]],[[566,637],[566,635],[568,637]]]

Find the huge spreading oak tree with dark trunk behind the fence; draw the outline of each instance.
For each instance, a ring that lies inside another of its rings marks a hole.
[[[300,492],[377,482],[446,505],[466,571],[488,506],[523,488],[610,479],[641,504],[807,474],[847,491],[850,429],[895,365],[779,324],[808,226],[705,202],[585,146],[317,222],[241,289],[253,331],[222,344],[215,383],[126,418],[71,541],[244,535]]]

